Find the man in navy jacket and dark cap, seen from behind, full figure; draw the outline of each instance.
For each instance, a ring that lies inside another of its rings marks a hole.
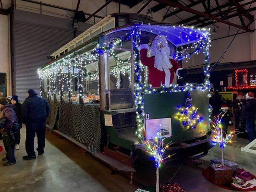
[[[36,159],[34,139],[37,133],[38,155],[44,153],[46,118],[49,116],[50,106],[45,98],[37,96],[33,89],[28,89],[28,97],[22,105],[22,121],[26,125],[26,153],[24,160]]]

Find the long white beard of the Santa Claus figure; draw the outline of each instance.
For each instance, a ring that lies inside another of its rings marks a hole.
[[[155,52],[155,64],[154,67],[159,71],[164,71],[165,69],[170,69],[172,67],[167,49],[158,48]]]

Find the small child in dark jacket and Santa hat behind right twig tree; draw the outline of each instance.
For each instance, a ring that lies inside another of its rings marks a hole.
[[[231,118],[233,114],[228,111],[229,107],[227,105],[222,105],[219,110],[219,118],[221,118],[222,130],[228,133],[228,126],[233,125]]]

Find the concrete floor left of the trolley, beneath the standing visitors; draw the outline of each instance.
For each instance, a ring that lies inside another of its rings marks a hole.
[[[110,169],[73,144],[49,133],[45,154],[24,161],[25,129],[21,132],[21,149],[15,151],[17,163],[7,167],[0,163],[1,192],[134,192],[137,189],[120,175],[110,175]],[[0,159],[3,157],[5,150],[0,153]]]

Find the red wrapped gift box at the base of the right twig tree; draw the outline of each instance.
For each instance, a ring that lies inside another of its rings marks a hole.
[[[229,185],[232,183],[233,170],[227,165],[223,167],[210,166],[208,169],[208,180],[215,185]]]

